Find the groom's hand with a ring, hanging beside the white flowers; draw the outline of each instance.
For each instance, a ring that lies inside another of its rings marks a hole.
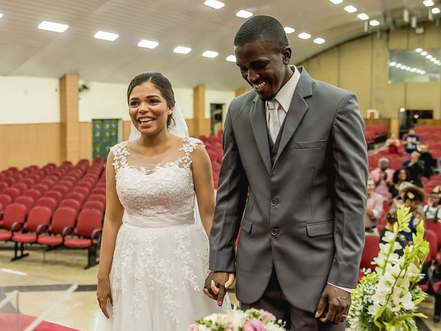
[[[316,318],[320,317],[320,321],[323,323],[344,322],[350,306],[351,293],[328,283],[322,292],[320,301],[318,301]],[[327,312],[325,312],[326,308]]]

